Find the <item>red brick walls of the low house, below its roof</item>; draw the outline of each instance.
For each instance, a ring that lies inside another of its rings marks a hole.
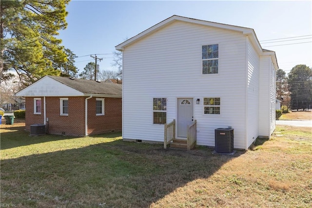
[[[26,131],[30,125],[42,124],[43,113],[34,114],[34,98],[26,97]],[[41,109],[43,109],[43,97]],[[85,136],[85,99],[87,97],[68,97],[68,116],[60,115],[59,102],[62,97],[46,97],[46,124],[50,134]],[[96,115],[96,98],[88,100],[88,135],[121,131],[121,98],[104,98],[104,115]]]

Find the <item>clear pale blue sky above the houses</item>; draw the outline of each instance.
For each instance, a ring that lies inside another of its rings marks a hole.
[[[117,70],[111,66],[115,46],[172,15],[253,28],[262,47],[276,52],[279,68],[286,73],[296,64],[312,67],[311,0],[72,0],[66,10],[68,27],[59,38],[78,56],[79,71],[94,61],[90,54],[103,58],[100,70]],[[279,40],[266,41],[272,39]]]

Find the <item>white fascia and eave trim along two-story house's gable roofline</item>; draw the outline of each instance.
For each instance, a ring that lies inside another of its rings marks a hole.
[[[161,21],[157,23],[156,25],[148,28],[147,30],[139,33],[138,35],[132,37],[131,39],[120,43],[119,45],[115,46],[116,50],[118,51],[123,51],[126,46],[129,44],[136,42],[145,36],[149,35],[152,32],[155,32],[159,30],[160,28],[166,26],[167,24],[174,22],[174,21],[184,21],[184,22],[189,22],[189,23],[195,23],[195,24],[200,24],[204,26],[210,26],[210,27],[217,27],[221,29],[226,29],[226,30],[232,30],[236,32],[242,32],[243,34],[254,34],[254,30],[251,28],[247,27],[239,27],[239,26],[234,26],[234,25],[229,25],[229,24],[222,24],[222,23],[217,23],[217,22],[212,22],[212,21],[203,21],[203,20],[196,20],[196,19],[191,19],[191,18],[186,18],[186,17],[181,17],[181,16],[172,16],[164,21]],[[260,45],[260,44],[259,44]]]

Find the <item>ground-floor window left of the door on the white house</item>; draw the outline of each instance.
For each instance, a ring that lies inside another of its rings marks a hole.
[[[153,98],[153,124],[167,123],[167,98]]]

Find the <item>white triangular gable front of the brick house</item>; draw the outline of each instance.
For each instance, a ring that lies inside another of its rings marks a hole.
[[[83,95],[84,93],[48,76],[39,79],[37,82],[32,83],[16,93],[16,96],[24,97],[67,97]]]

